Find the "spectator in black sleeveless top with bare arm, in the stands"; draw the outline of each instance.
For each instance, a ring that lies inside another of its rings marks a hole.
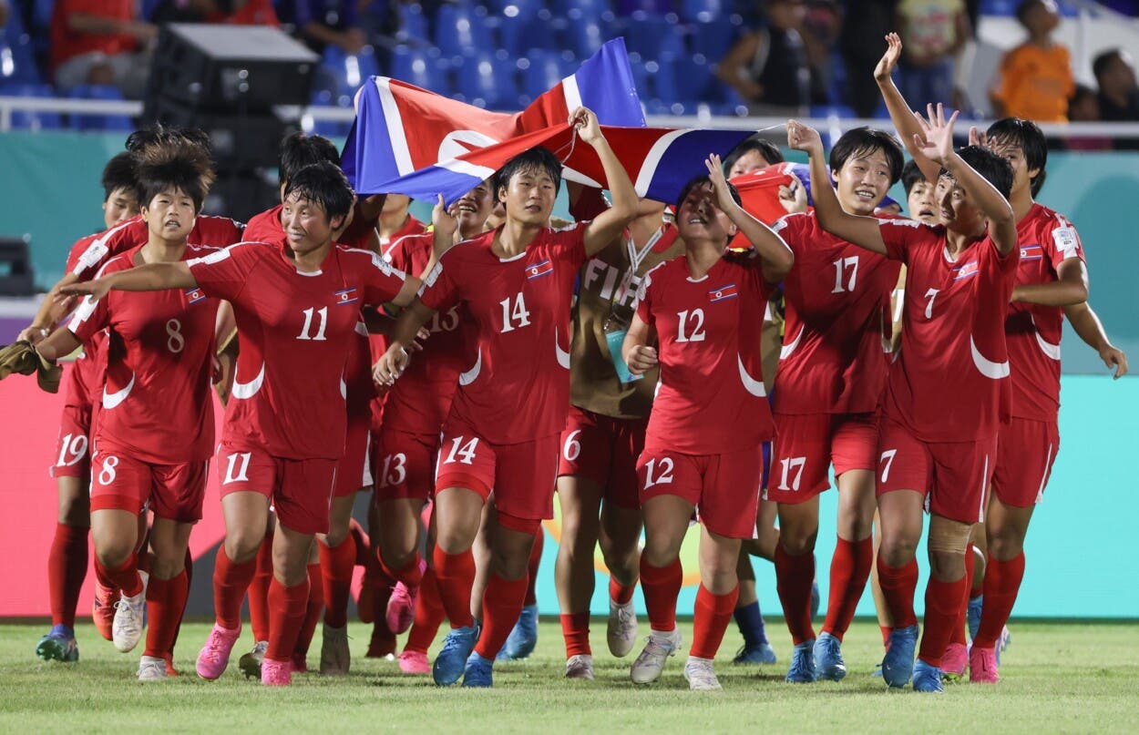
[[[753,112],[804,110],[826,101],[811,69],[803,38],[803,0],[771,0],[768,24],[745,34],[720,61],[716,74]]]

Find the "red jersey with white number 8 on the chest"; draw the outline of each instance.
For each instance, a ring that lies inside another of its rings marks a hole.
[[[99,274],[134,267],[139,249],[112,258]],[[215,251],[188,246],[182,259]],[[109,441],[154,464],[210,459],[216,316],[218,300],[199,288],[110,291],[83,302],[68,329],[84,342],[105,329],[108,335],[97,446]]]

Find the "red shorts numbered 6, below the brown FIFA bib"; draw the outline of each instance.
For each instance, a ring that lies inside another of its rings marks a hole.
[[[605,490],[617,507],[640,507],[637,457],[645,448],[645,419],[612,419],[570,406],[562,432],[558,476],[581,477]]]

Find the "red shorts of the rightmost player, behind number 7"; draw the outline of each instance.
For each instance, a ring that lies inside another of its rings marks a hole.
[[[1055,421],[1013,419],[1000,429],[993,493],[1005,505],[1032,507],[1044,497],[1044,486],[1060,448]]]

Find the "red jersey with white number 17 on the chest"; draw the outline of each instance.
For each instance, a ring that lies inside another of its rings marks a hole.
[[[825,231],[813,210],[785,216],[773,229],[795,254],[784,279],[776,413],[876,411],[886,385],[890,294],[901,265]]]

